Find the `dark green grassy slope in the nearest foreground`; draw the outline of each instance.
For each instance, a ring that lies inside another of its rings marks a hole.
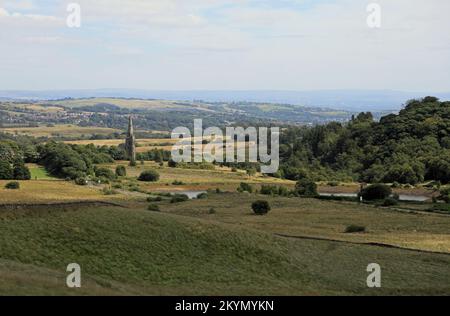
[[[7,215],[0,215],[0,294],[450,293],[448,255],[287,239],[139,209]],[[72,262],[82,268],[80,290],[65,286]],[[381,289],[366,287],[372,262],[382,267]]]

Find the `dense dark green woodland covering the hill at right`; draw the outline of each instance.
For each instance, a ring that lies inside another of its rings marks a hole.
[[[361,113],[347,124],[291,127],[280,143],[275,176],[287,179],[449,183],[450,102],[411,100],[379,122]]]

